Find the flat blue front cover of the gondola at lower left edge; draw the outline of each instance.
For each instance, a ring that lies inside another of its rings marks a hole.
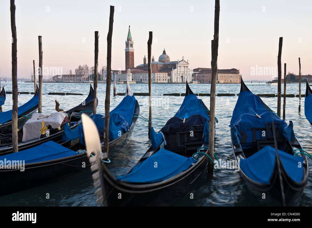
[[[78,153],[73,150],[67,149],[66,147],[54,141],[48,141],[27,150],[22,150],[17,153],[0,156],[0,163],[1,161],[2,163],[4,163],[4,159],[6,159],[7,161],[24,160],[25,164],[28,164],[66,158],[76,154]]]

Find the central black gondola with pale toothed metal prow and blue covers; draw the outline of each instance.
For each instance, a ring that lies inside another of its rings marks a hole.
[[[87,116],[82,117],[85,132],[95,126]],[[151,146],[128,174],[112,175],[101,161],[99,136],[86,134],[86,150],[97,203],[104,206],[165,206],[183,197],[199,180],[207,167],[208,158],[196,154],[207,146],[209,111],[186,83],[183,103],[174,117],[156,134],[151,129]],[[206,149],[202,150],[207,153]]]

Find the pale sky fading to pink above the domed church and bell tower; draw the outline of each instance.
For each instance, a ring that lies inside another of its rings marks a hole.
[[[166,49],[171,61],[188,60],[190,68],[211,67],[214,1],[100,1],[15,0],[17,76],[30,78],[32,60],[38,66],[38,36],[42,36],[43,64],[62,67],[63,74],[79,64],[94,66],[94,31],[99,31],[99,68],[106,65],[110,5],[115,6],[112,69],[125,69],[125,40],[129,25],[134,40],[134,65],[147,57],[153,31],[155,61]],[[244,79],[251,68],[276,67],[279,37],[283,37],[282,75],[312,74],[312,1],[220,0],[218,68],[240,69]],[[10,1],[0,0],[1,77],[11,77]],[[85,41],[85,42],[83,42]],[[277,74],[277,73],[276,73]]]

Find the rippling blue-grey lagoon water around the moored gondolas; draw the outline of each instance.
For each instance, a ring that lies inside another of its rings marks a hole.
[[[5,85],[6,91],[12,91],[12,83],[1,82]],[[251,92],[275,93],[277,86],[267,84],[247,83]],[[148,92],[148,84],[131,84],[133,92]],[[210,93],[210,84],[191,84],[194,93]],[[33,92],[32,83],[18,83],[20,92]],[[104,113],[106,84],[98,84],[98,108],[97,113]],[[124,93],[126,85],[116,84],[116,92]],[[123,96],[113,97],[113,85],[111,87],[110,108],[116,107]],[[239,93],[240,84],[217,84],[217,93]],[[282,86],[283,91],[283,86]],[[49,92],[70,92],[82,93],[83,96],[60,96],[47,95]],[[305,93],[305,83],[302,84],[302,94]],[[60,102],[60,108],[67,110],[78,105],[89,93],[87,83],[43,83],[43,103],[44,113],[55,112],[55,100]],[[184,97],[162,96],[163,93],[185,93],[185,84],[152,84],[152,126],[155,131],[174,116],[178,111]],[[283,92],[282,92],[283,93]],[[299,94],[299,84],[288,84],[287,93]],[[19,104],[27,102],[33,95],[22,94],[18,96]],[[200,97],[207,107],[210,106],[210,97]],[[12,94],[7,94],[6,103],[3,111],[12,109]],[[149,107],[148,97],[137,96],[140,104],[140,114],[148,118]],[[261,98],[272,110],[277,110],[277,97]],[[216,97],[216,139],[215,152],[218,158],[232,160],[232,147],[230,139],[229,124],[232,112],[237,101],[237,96]],[[282,99],[283,103],[283,99]],[[312,153],[312,129],[304,115],[304,98],[302,99],[301,112],[298,112],[299,98],[286,98],[286,121],[294,122],[294,131],[302,147]],[[283,106],[282,106],[283,107]],[[116,154],[109,164],[109,169],[115,175],[126,174],[133,165],[141,158],[149,148],[148,123],[139,119],[134,128],[132,137],[128,145]],[[310,171],[312,162],[309,160]],[[12,180],[12,181],[18,181]],[[310,173],[309,182],[305,187],[300,206],[312,206],[312,174]],[[50,199],[46,199],[46,193],[50,194]],[[213,178],[207,178],[204,173],[197,185],[191,189],[194,199],[190,199],[189,194],[183,197],[175,205],[178,206],[260,206],[262,205],[247,188],[245,182],[240,178],[234,169],[222,169],[214,171]],[[26,191],[17,192],[0,197],[0,206],[96,206],[96,197],[92,185],[91,173],[82,173],[73,178],[54,182]]]

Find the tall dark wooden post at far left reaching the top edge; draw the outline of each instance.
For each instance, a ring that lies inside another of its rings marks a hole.
[[[10,0],[11,10],[11,31],[12,31],[12,141],[13,153],[18,152],[17,137],[17,38],[15,26],[15,4]]]

